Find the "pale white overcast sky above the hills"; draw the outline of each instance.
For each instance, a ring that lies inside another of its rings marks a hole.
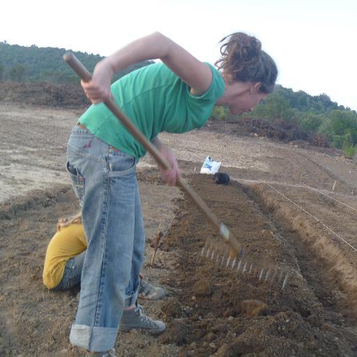
[[[278,83],[326,93],[357,110],[356,0],[11,0],[1,3],[0,41],[107,56],[161,31],[202,61],[235,31],[257,36],[278,64]]]

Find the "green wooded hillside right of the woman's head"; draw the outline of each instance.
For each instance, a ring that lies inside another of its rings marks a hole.
[[[215,107],[213,119],[231,120],[231,115],[227,109]],[[277,85],[274,93],[238,119],[252,119],[251,130],[259,127],[258,131],[268,135],[270,132],[271,137],[303,139],[319,146],[333,146],[342,149],[349,158],[357,153],[356,111],[338,105],[325,93],[310,96],[304,91],[295,92]],[[258,119],[268,123],[258,123]]]

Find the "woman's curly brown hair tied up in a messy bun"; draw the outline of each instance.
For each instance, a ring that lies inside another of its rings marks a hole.
[[[215,66],[222,70],[222,74],[231,82],[259,82],[262,93],[274,90],[278,77],[278,68],[274,60],[261,50],[261,42],[243,32],[231,33],[222,38],[220,43],[221,58]]]

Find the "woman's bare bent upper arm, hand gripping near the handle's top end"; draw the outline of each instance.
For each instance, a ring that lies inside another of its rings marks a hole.
[[[86,95],[93,103],[106,100],[110,96],[112,75],[146,59],[160,59],[191,87],[195,95],[206,92],[211,85],[212,73],[208,66],[162,33],[154,32],[100,61],[94,69],[92,80],[82,82]]]

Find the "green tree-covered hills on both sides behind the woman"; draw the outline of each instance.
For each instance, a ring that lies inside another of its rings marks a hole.
[[[65,52],[64,48],[24,47],[4,41],[0,43],[0,81],[78,83],[77,76],[62,59]],[[93,71],[102,59],[99,54],[74,54],[89,71]],[[153,61],[143,61],[130,66],[113,80],[151,63]],[[227,109],[222,107],[215,108],[213,118],[231,120]],[[304,91],[295,92],[278,85],[275,92],[252,112],[240,116],[243,118],[263,119],[273,126],[293,128],[298,139],[313,137],[314,142],[323,146],[344,149],[347,156],[357,151],[356,111],[333,102],[326,93],[310,96]]]

